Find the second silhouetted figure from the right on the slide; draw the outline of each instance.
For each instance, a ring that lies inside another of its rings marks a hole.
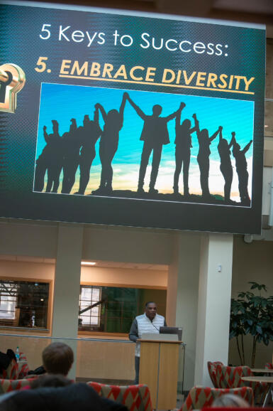
[[[219,132],[219,143],[218,143],[218,153],[221,159],[220,170],[223,174],[223,178],[225,179],[225,186],[224,186],[224,196],[225,202],[230,203],[230,189],[231,183],[233,182],[233,167],[231,165],[230,160],[230,147],[233,145],[232,140],[230,140],[230,144],[226,139],[223,139],[222,135],[223,127],[220,127]]]

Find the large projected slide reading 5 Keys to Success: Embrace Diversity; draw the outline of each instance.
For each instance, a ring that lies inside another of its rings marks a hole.
[[[264,26],[0,4],[0,216],[259,234]]]

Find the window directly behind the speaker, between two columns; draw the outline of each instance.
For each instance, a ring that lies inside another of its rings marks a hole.
[[[135,316],[143,314],[147,301],[156,301],[159,314],[165,316],[166,297],[165,289],[82,285],[79,331],[128,333]]]

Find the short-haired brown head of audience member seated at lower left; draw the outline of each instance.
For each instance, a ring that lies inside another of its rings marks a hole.
[[[74,361],[72,348],[65,343],[50,344],[44,349],[42,358],[48,374],[67,375]]]

